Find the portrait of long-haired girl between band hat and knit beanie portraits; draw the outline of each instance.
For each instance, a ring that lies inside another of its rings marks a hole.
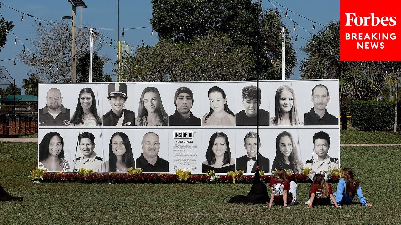
[[[160,92],[155,87],[146,87],[139,100],[135,126],[167,126],[168,115],[164,110]]]

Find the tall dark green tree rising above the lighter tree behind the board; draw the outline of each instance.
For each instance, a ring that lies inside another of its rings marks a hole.
[[[260,7],[261,9],[261,7]],[[263,12],[263,10],[260,10]],[[265,10],[257,18],[257,5],[252,0],[152,0],[152,27],[159,41],[191,44],[196,37],[211,33],[227,34],[231,48],[251,48],[247,60],[253,61],[253,73],[249,80],[256,79],[256,51],[259,45],[259,78],[275,80],[281,78],[281,20],[280,14]],[[259,43],[256,24],[259,23]],[[264,28],[264,29],[263,29]],[[286,31],[289,31],[286,28]],[[297,62],[292,47],[290,32],[286,35],[286,77],[292,75]]]

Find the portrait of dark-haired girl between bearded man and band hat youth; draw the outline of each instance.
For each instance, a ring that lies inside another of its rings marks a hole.
[[[91,88],[82,88],[78,95],[77,108],[71,117],[72,126],[100,126],[102,120],[97,113],[95,93]]]

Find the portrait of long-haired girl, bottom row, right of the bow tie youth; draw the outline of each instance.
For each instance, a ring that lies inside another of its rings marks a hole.
[[[274,169],[290,169],[294,173],[299,173],[303,167],[292,135],[287,131],[279,133],[276,138],[276,156],[271,171]]]

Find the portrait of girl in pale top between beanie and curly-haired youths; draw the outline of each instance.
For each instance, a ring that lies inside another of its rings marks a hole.
[[[210,110],[202,118],[203,126],[235,126],[235,114],[228,107],[223,89],[213,86],[208,92]]]

